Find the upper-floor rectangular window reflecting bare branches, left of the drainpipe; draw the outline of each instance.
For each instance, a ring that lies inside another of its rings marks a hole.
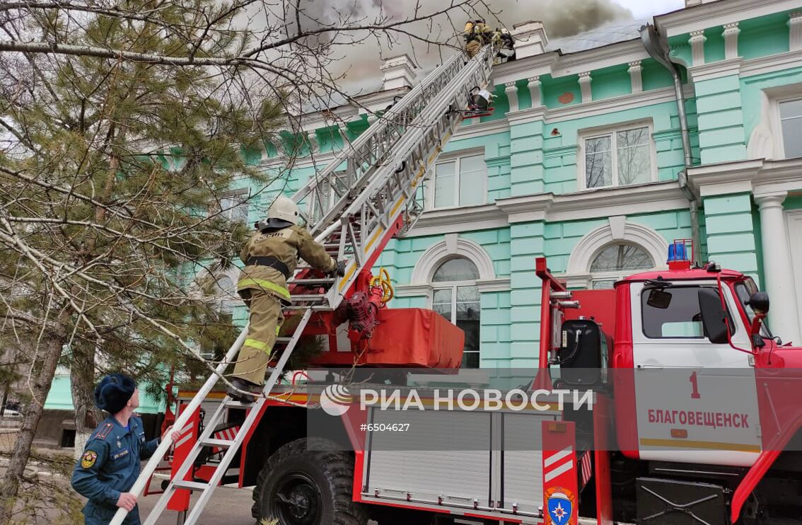
[[[585,188],[654,181],[653,145],[648,126],[586,136]]]

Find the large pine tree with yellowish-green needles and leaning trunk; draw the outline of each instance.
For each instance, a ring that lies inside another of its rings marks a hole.
[[[155,2],[127,2],[147,13]],[[194,10],[231,22],[228,6],[194,2]],[[187,14],[160,6],[153,18],[57,11],[18,23],[25,34],[60,44],[188,57]],[[216,31],[220,50],[244,36]],[[13,320],[4,332],[19,343],[38,340],[27,371],[34,391],[2,503],[18,490],[56,364],[71,367],[78,434],[96,421],[92,390],[100,372],[119,370],[144,385],[164,385],[172,366],[198,372],[181,348],[215,331],[236,336],[230,317],[182,277],[200,266],[228,263],[245,226],[215,206],[234,177],[266,183],[247,153],[270,140],[277,100],[245,88],[237,66],[172,67],[91,55],[17,55],[2,92],[2,126],[14,148],[0,154],[0,281],[13,292],[0,305]],[[6,69],[10,71],[10,68]],[[13,134],[13,135],[12,135]],[[160,393],[160,386],[151,393]],[[17,462],[17,464],[15,464]],[[0,512],[0,522],[10,508]]]

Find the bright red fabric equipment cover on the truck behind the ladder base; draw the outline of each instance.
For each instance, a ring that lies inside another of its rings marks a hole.
[[[443,315],[423,308],[382,308],[365,364],[456,368],[465,334]]]

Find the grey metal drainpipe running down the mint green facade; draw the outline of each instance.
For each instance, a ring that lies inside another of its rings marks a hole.
[[[679,189],[682,190],[688,199],[688,208],[691,211],[691,238],[694,242],[694,264],[699,265],[699,250],[702,247],[701,235],[699,234],[699,197],[688,185],[688,169],[693,166],[691,157],[691,134],[688,132],[688,116],[685,112],[685,96],[683,94],[683,81],[679,76],[676,65],[671,61],[666,38],[652,24],[647,23],[641,28],[641,43],[649,53],[649,56],[658,63],[662,64],[674,79],[674,96],[677,99],[677,109],[679,112],[679,128],[683,137],[683,152],[685,153],[685,170],[678,173]]]

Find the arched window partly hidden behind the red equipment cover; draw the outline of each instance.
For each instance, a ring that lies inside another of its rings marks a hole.
[[[479,270],[467,258],[450,258],[431,278],[431,309],[465,332],[463,368],[479,368]]]

